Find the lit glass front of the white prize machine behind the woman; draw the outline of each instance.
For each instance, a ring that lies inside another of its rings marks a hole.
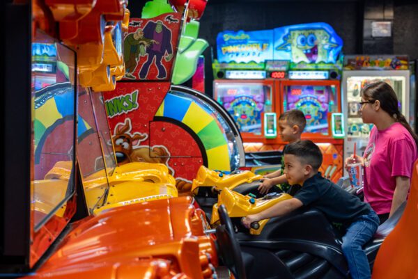
[[[349,77],[347,79],[347,136],[368,138],[372,124],[365,124],[359,111],[361,99],[360,91],[367,84],[376,81],[386,81],[394,88],[398,97],[398,106],[402,111],[403,90],[405,90],[405,77]]]

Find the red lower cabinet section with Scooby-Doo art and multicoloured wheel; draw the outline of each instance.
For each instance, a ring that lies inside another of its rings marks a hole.
[[[187,183],[196,177],[201,165],[226,171],[238,168],[243,150],[238,148],[242,145],[233,120],[225,111],[219,113],[185,91],[180,87],[173,90],[165,82],[124,82],[104,94],[119,164],[128,161],[166,164],[177,181]],[[130,135],[131,145],[120,138],[121,134]],[[140,145],[134,145],[132,138],[136,134],[148,137]],[[178,188],[180,192],[191,186],[183,184]]]

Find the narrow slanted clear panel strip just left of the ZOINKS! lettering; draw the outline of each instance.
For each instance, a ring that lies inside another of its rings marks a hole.
[[[104,152],[104,161],[106,163],[106,169],[108,175],[111,175],[116,168],[116,158],[111,141],[111,135],[109,132],[109,124],[107,122],[107,114],[104,109],[104,102],[102,93],[91,93],[93,109],[95,113],[96,121],[98,122],[98,129],[100,134],[100,142],[102,143]]]

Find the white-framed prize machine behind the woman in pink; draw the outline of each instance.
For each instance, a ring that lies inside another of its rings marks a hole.
[[[369,141],[373,125],[364,124],[359,114],[360,91],[376,81],[386,81],[396,92],[399,109],[405,118],[410,115],[410,70],[405,56],[346,56],[344,58],[341,92],[343,115],[346,122],[344,158],[353,154],[356,143],[359,154],[363,153]]]

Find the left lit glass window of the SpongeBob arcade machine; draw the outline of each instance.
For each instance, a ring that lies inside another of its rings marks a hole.
[[[217,102],[242,132],[261,135],[261,113],[272,111],[272,88],[261,83],[217,83]]]

